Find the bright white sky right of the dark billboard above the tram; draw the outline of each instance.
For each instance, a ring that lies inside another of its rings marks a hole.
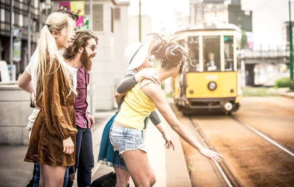
[[[243,10],[252,11],[253,50],[286,50],[289,1],[242,0],[241,3]],[[291,16],[293,21],[293,2]]]

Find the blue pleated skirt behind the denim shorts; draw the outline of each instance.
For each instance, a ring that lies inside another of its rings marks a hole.
[[[114,118],[118,114],[113,115],[104,127],[101,142],[100,151],[98,155],[98,163],[106,164],[109,167],[120,168],[127,171],[123,157],[119,154],[119,151],[114,151],[114,148],[109,140],[109,132],[114,121]]]

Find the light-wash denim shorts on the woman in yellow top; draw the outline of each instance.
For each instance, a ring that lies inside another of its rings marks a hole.
[[[114,150],[119,151],[120,155],[125,151],[137,149],[147,152],[143,140],[143,131],[141,130],[112,125],[109,139]]]

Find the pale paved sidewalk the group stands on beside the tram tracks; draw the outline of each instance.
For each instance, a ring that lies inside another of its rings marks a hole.
[[[98,112],[95,115],[96,124],[92,128],[95,159],[92,181],[113,171],[112,167],[98,164],[97,159],[104,126],[114,113],[115,111]],[[157,178],[154,187],[191,187],[180,138],[166,122],[165,127],[174,141],[175,151],[164,148],[165,141],[151,122],[144,132],[149,162]],[[33,164],[24,162],[26,150],[27,145],[0,145],[0,187],[25,187],[28,184],[32,178]]]

